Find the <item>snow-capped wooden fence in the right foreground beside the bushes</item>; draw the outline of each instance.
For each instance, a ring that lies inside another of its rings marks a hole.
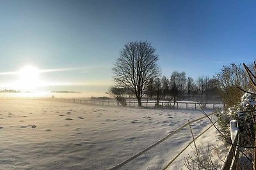
[[[237,167],[239,157],[239,148],[236,146],[239,143],[239,129],[237,127],[237,120],[230,121],[232,145],[228,150],[227,158],[225,159],[225,163],[221,167],[221,170],[234,170]]]

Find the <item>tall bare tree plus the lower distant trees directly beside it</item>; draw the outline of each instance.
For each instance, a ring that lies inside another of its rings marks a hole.
[[[124,103],[125,96],[135,96],[141,106],[141,98],[176,101],[178,97],[200,96],[207,99],[216,94],[216,81],[208,76],[196,80],[186,73],[174,71],[170,78],[160,75],[156,49],[147,41],[129,42],[120,51],[120,57],[113,67],[115,87],[109,94]],[[122,94],[123,93],[123,94]]]

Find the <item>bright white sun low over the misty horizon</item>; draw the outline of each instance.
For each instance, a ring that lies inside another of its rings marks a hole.
[[[22,90],[34,90],[40,86],[40,70],[33,66],[24,66],[19,71],[17,86]]]

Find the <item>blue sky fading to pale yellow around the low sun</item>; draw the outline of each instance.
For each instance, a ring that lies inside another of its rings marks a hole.
[[[2,1],[0,89],[24,66],[40,90],[107,92],[129,41],[156,48],[163,75],[212,76],[256,55],[256,1]],[[50,70],[50,71],[49,71]],[[9,87],[10,88],[10,87]]]

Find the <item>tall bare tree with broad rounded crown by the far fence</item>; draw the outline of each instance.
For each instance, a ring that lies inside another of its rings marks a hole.
[[[129,42],[120,51],[113,73],[114,80],[119,87],[127,87],[134,92],[138,105],[141,97],[147,92],[146,88],[151,78],[159,75],[156,49],[147,41]]]

